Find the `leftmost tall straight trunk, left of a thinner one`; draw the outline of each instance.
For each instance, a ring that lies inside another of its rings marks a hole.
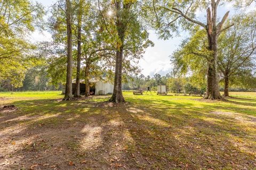
[[[71,3],[66,0],[66,13],[67,13],[67,80],[66,80],[66,91],[63,100],[72,100],[72,29],[71,29]]]

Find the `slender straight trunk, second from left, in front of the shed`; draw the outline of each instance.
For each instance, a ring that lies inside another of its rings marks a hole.
[[[80,1],[81,2],[81,1]],[[80,95],[80,70],[81,70],[81,22],[82,22],[82,4],[79,5],[78,12],[78,28],[77,28],[77,66],[76,66],[76,89],[74,97]]]

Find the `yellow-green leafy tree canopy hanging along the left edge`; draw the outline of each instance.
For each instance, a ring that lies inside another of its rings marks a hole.
[[[36,46],[27,36],[43,29],[44,8],[29,0],[0,2],[0,80],[10,79],[14,87],[22,86],[28,67],[35,63]]]

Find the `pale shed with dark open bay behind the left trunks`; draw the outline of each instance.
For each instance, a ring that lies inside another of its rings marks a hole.
[[[80,94],[85,94],[85,81],[81,80]],[[72,93],[75,94],[76,83],[72,83]],[[62,86],[62,94],[65,94],[66,86]],[[107,95],[114,91],[114,84],[110,81],[90,79],[90,95]]]

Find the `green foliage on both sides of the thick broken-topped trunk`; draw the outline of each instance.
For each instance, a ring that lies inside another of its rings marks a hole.
[[[229,79],[233,84],[247,83],[239,77],[253,77],[255,67],[255,21],[252,20],[254,12],[239,14],[228,20],[227,25],[234,26],[222,33],[219,38],[218,72],[219,80],[225,83],[226,95],[228,96]],[[187,74],[191,72],[194,85],[205,83],[205,62],[211,53],[207,50],[207,35],[204,30],[195,27],[191,31],[191,37],[184,40],[180,49],[172,55],[175,72]]]

